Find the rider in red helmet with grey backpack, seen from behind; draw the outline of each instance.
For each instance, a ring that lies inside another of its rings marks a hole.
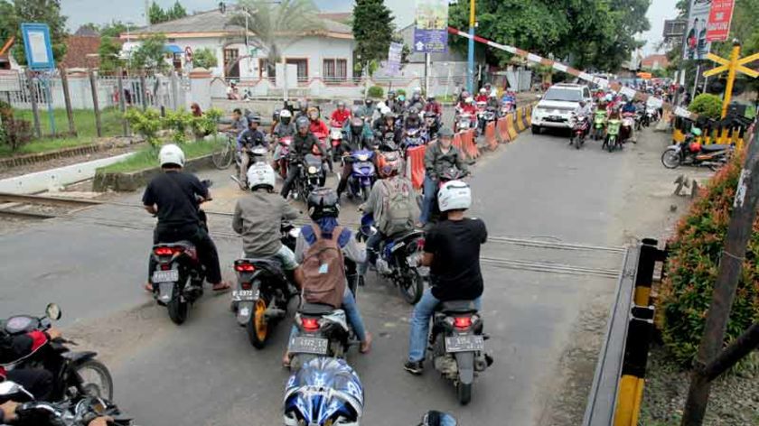
[[[377,232],[366,242],[366,262],[361,264],[361,279],[370,264],[377,262],[379,244],[391,236],[403,234],[414,228],[414,221],[419,217],[419,206],[414,185],[408,178],[399,174],[402,161],[398,153],[388,153],[379,169],[384,178],[377,181],[371,189],[369,199],[361,206],[364,216],[361,218],[362,232],[373,220]]]

